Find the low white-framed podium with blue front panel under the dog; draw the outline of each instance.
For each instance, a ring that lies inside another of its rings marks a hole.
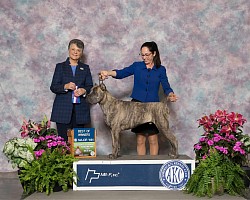
[[[195,169],[186,155],[107,155],[79,159],[73,163],[78,175],[73,190],[182,190]]]

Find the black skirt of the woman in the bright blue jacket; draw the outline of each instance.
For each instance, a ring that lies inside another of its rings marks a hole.
[[[132,99],[131,101],[141,102],[136,99]],[[147,122],[144,124],[140,124],[131,129],[134,133],[141,133],[141,134],[158,134],[159,130],[153,122]]]

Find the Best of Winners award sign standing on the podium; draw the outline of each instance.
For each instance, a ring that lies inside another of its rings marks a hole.
[[[74,128],[68,134],[71,154],[76,158],[96,157],[96,131],[94,128]]]

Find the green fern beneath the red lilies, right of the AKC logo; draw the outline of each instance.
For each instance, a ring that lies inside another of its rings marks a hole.
[[[239,164],[211,149],[210,156],[201,160],[188,180],[184,191],[196,196],[212,197],[214,194],[228,193],[242,195],[245,189],[245,171]]]

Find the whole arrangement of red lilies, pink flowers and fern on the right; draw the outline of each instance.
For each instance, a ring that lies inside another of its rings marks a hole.
[[[246,119],[239,113],[217,110],[198,122],[204,131],[194,145],[198,166],[185,191],[209,197],[218,192],[243,195],[247,175],[241,166],[250,152],[249,136],[242,131]]]

